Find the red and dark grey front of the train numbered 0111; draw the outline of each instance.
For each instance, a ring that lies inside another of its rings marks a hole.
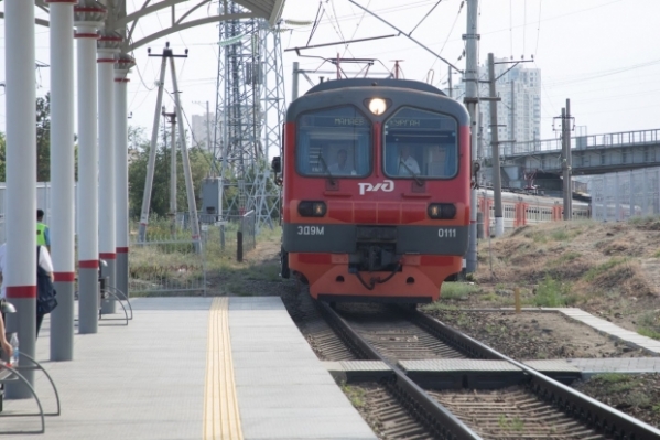
[[[289,108],[282,273],[326,300],[429,302],[462,270],[465,108],[423,83],[323,83]]]

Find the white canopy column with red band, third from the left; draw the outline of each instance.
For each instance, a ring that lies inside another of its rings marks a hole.
[[[98,332],[97,30],[106,10],[96,2],[74,8],[78,98],[78,332]]]

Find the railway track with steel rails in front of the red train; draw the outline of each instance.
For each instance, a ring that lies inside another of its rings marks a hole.
[[[539,372],[416,311],[374,309],[318,312],[359,359],[379,359],[393,371],[385,384],[416,423],[394,437],[441,439],[656,439],[660,431],[584,396]],[[500,359],[523,372],[518,387],[482,390],[424,390],[399,367],[409,358]],[[445,358],[446,358],[445,357]],[[399,414],[402,408],[391,409]],[[408,425],[405,425],[408,426]],[[421,430],[421,431],[420,431]]]

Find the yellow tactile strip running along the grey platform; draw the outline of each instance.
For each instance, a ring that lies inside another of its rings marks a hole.
[[[204,440],[242,440],[229,337],[229,298],[215,298],[208,316]]]

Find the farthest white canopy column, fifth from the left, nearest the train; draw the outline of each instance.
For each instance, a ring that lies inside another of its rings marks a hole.
[[[115,65],[115,190],[117,197],[117,292],[120,299],[128,298],[128,103],[126,77],[136,65],[127,54],[119,56]]]

